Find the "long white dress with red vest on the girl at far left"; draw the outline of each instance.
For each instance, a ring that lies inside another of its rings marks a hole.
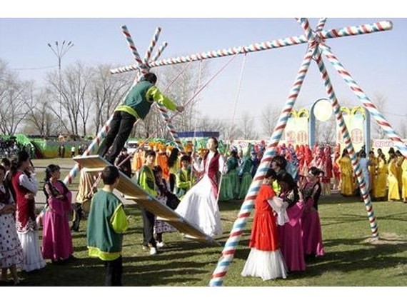
[[[23,249],[23,261],[19,268],[24,271],[41,269],[46,264],[39,248],[39,238],[36,227],[35,201],[26,199],[29,193],[36,194],[38,182],[35,176],[27,176],[22,171],[17,171],[11,179],[16,192],[16,227],[17,234]]]

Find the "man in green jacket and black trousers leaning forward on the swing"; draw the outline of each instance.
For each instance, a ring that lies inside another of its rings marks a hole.
[[[161,94],[155,86],[156,82],[156,74],[145,74],[141,81],[130,90],[124,103],[114,110],[109,132],[98,151],[99,156],[106,155],[105,159],[111,164],[114,164],[116,157],[126,144],[134,123],[138,119],[144,119],[149,114],[151,104],[154,101],[171,111],[184,111],[184,106],[177,106],[171,99]]]

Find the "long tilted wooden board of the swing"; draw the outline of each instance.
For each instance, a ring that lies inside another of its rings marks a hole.
[[[81,166],[86,167],[89,171],[102,171],[106,166],[112,164],[103,159],[99,155],[94,156],[77,156],[74,157],[74,161],[78,162]],[[174,226],[174,228],[192,236],[198,241],[205,241],[208,244],[216,244],[221,246],[218,241],[214,240],[211,236],[206,235],[201,229],[194,224],[190,224],[181,215],[177,214],[174,210],[168,206],[161,204],[149,193],[141,189],[135,181],[131,180],[128,176],[119,171],[120,180],[119,185],[116,187],[118,191],[126,195],[126,199],[136,201],[139,206],[143,206],[145,209],[151,211],[157,216],[157,219],[164,220]]]

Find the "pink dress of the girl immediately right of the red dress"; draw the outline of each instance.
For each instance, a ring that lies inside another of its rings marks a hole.
[[[286,194],[280,194],[281,199],[286,201]],[[289,207],[287,211],[289,221],[283,226],[278,226],[278,237],[281,244],[281,254],[286,261],[288,271],[304,271],[306,263],[304,259],[301,216],[304,204],[300,201]]]

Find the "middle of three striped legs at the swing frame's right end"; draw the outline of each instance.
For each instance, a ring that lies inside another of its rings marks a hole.
[[[351,157],[353,171],[355,172],[356,178],[358,179],[358,184],[359,188],[361,189],[363,202],[365,204],[366,211],[368,212],[368,219],[371,226],[373,238],[378,239],[378,224],[376,222],[376,216],[373,211],[371,196],[369,195],[369,192],[366,189],[366,181],[361,171],[361,166],[359,165],[355,149],[353,149],[351,136],[349,136],[348,128],[346,127],[345,120],[343,119],[342,116],[341,106],[338,103],[335,91],[333,91],[331,79],[328,76],[328,71],[326,71],[325,64],[323,64],[323,60],[321,58],[321,50],[319,49],[318,54],[316,56],[316,63],[318,64],[319,71],[321,72],[321,77],[325,84],[326,94],[328,95],[329,101],[331,101],[333,113],[336,116],[336,121],[338,122],[339,129],[341,129],[341,134],[346,144],[346,149],[348,150],[348,154]]]

